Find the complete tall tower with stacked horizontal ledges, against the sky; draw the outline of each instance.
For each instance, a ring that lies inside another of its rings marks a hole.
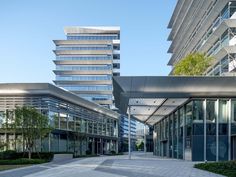
[[[112,108],[112,76],[120,75],[120,28],[66,27],[64,31],[66,40],[54,40],[54,83]]]

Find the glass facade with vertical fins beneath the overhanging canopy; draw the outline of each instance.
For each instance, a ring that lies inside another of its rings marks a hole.
[[[154,125],[154,154],[192,161],[235,159],[235,112],[234,99],[192,99]]]

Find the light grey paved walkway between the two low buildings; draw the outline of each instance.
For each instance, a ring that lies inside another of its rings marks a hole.
[[[1,177],[222,177],[193,168],[193,162],[151,154],[72,159],[0,172]]]

